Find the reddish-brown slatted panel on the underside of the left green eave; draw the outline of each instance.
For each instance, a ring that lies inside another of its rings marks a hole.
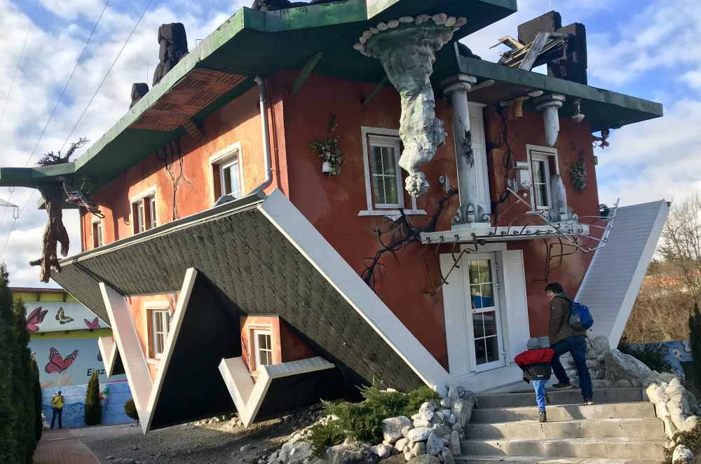
[[[246,76],[196,68],[179,81],[133,123],[132,129],[170,132],[185,125]]]

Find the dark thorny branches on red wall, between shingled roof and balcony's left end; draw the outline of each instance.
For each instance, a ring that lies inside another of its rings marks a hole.
[[[374,289],[376,283],[381,279],[383,273],[382,258],[386,254],[391,254],[395,259],[397,253],[400,252],[405,245],[409,243],[421,243],[421,233],[435,232],[436,225],[440,215],[445,210],[449,200],[458,193],[457,189],[450,189],[443,195],[438,202],[435,211],[428,218],[426,225],[423,227],[415,226],[411,219],[404,214],[404,210],[400,211],[400,217],[395,220],[386,218],[382,224],[374,228],[373,232],[377,236],[380,243],[380,249],[377,250],[372,258],[365,258],[365,269],[363,269],[360,277],[365,281],[370,288]]]

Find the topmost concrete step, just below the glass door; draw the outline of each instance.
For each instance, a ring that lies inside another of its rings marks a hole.
[[[581,404],[582,392],[578,388],[569,390],[550,390],[547,392],[550,404]],[[599,403],[627,403],[641,402],[643,390],[640,388],[606,388],[594,390],[594,402]],[[508,408],[521,406],[534,406],[536,395],[531,392],[524,393],[490,393],[477,395],[477,407],[479,408]]]

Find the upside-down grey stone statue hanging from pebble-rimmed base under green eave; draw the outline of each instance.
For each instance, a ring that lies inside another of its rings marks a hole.
[[[435,156],[446,137],[442,121],[435,116],[435,96],[430,83],[435,54],[465,24],[465,18],[445,13],[404,16],[370,27],[353,46],[363,55],[380,60],[400,94],[400,138],[404,151],[399,165],[409,172],[406,189],[414,197],[428,191],[426,175],[419,169]]]

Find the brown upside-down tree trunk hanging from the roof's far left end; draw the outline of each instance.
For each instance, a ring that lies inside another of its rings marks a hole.
[[[39,160],[39,165],[49,166],[68,163],[74,151],[86,143],[88,143],[86,138],[81,138],[78,142],[72,143],[64,156],[61,155],[60,151],[58,153],[50,151]],[[39,191],[46,202],[48,221],[41,239],[41,258],[29,261],[29,265],[41,266],[39,279],[41,282],[48,282],[51,278],[51,268],[55,268],[57,271],[61,270],[57,257],[57,244],[61,244],[62,256],[67,256],[68,254],[69,238],[63,225],[62,210],[65,186],[63,182],[50,182],[39,186]]]

